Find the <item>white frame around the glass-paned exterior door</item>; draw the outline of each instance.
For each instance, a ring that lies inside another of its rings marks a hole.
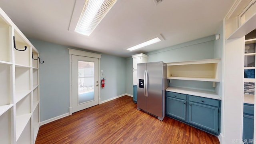
[[[85,51],[81,51],[81,50],[74,50],[71,48],[68,48],[68,53],[69,53],[69,115],[72,115],[72,55],[86,56],[86,57],[90,57],[90,58],[98,58],[99,59],[99,74],[98,74],[98,76],[99,76],[99,80],[100,80],[101,54],[85,52]],[[99,88],[99,103],[100,103],[100,88]]]

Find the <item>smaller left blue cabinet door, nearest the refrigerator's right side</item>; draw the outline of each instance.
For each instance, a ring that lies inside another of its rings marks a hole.
[[[166,97],[166,114],[186,121],[186,100]]]

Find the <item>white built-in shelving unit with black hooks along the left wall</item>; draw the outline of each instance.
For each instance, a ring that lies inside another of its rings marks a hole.
[[[39,60],[32,52],[35,59],[39,52],[1,8],[0,35],[0,144],[34,144],[40,97]]]

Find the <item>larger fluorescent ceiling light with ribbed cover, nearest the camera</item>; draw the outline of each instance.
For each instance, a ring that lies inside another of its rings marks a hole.
[[[116,0],[86,0],[75,32],[89,36]]]

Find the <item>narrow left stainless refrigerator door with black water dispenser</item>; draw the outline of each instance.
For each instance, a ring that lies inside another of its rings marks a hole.
[[[145,86],[145,76],[146,76],[146,63],[141,63],[137,65],[137,107],[146,111],[146,86]],[[140,82],[139,82],[140,80]],[[141,85],[143,82],[143,86]]]

